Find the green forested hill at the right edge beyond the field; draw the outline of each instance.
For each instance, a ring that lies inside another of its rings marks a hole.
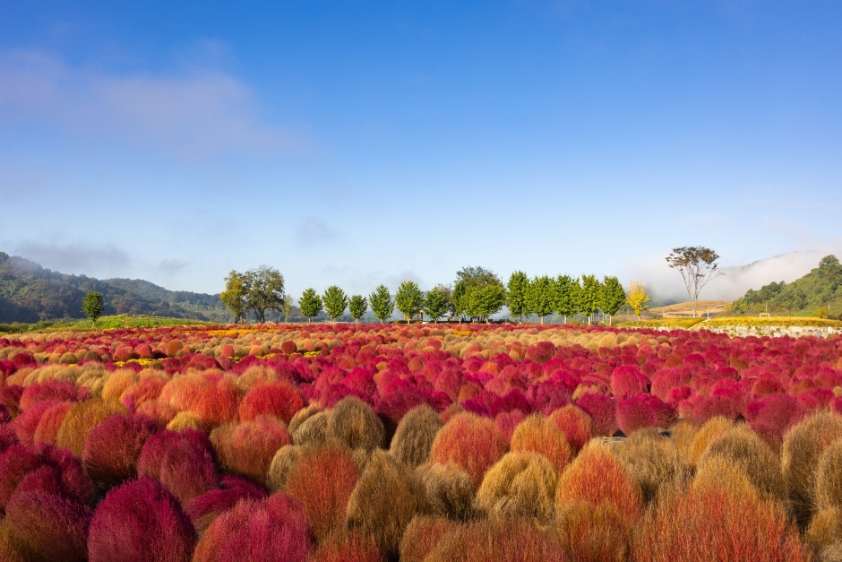
[[[819,267],[789,284],[771,282],[760,290],[749,290],[734,302],[739,313],[766,312],[770,314],[815,314],[824,316],[830,305],[829,316],[842,311],[842,264],[835,255],[821,258]]]

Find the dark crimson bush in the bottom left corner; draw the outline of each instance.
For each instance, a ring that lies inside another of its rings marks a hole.
[[[84,562],[90,508],[45,492],[16,494],[6,506],[4,524],[32,559]]]

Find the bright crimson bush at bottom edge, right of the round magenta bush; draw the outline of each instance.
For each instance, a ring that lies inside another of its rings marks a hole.
[[[305,562],[311,548],[304,507],[277,493],[262,501],[243,500],[219,515],[199,541],[193,562]]]

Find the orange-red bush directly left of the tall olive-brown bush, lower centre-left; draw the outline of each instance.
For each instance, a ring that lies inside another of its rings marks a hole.
[[[344,523],[358,479],[351,452],[338,445],[306,451],[295,463],[286,489],[304,506],[316,540],[325,540]]]

